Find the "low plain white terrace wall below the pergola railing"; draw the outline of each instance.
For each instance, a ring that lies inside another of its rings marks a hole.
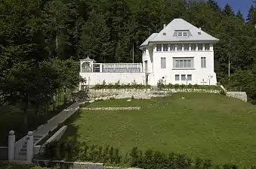
[[[102,84],[103,80],[106,84],[117,83],[120,80],[122,84],[133,83],[134,80],[137,84],[145,84],[145,73],[98,73],[98,72],[87,72],[80,73],[82,77],[87,80],[86,85]]]

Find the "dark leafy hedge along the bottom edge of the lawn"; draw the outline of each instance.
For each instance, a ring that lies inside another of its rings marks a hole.
[[[114,166],[140,167],[144,169],[236,169],[235,164],[213,164],[208,159],[190,158],[184,154],[168,155],[154,150],[141,151],[137,147],[125,155],[113,146],[98,146],[77,141],[53,142],[46,145],[39,158],[65,161],[93,161]],[[247,167],[256,169],[254,166]]]

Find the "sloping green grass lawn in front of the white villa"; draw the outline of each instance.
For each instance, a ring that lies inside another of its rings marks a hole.
[[[256,106],[237,99],[174,93],[169,98],[97,101],[89,106],[141,109],[83,111],[71,122],[63,140],[76,135],[80,141],[116,146],[124,153],[137,146],[187,153],[216,163],[256,163]]]

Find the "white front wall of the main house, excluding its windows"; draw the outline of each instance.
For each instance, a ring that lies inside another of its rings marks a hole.
[[[161,57],[166,58],[166,68],[161,68]],[[177,70],[173,68],[173,57],[193,57],[194,68],[187,70]],[[206,58],[206,68],[201,68],[201,57]],[[144,57],[146,59],[146,57]],[[180,80],[175,81],[175,74],[180,74]],[[192,74],[192,81],[181,81],[181,74]],[[172,84],[209,84],[209,76],[213,76],[210,80],[211,85],[216,85],[216,74],[214,73],[214,51],[211,46],[210,51],[174,51],[174,52],[157,52],[156,47],[153,52],[153,74],[150,74],[149,84],[156,86],[157,81],[165,77],[165,82]]]

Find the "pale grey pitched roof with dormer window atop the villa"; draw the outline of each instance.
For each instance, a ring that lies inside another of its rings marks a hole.
[[[175,32],[177,31],[188,31],[190,36],[186,38],[175,36]],[[200,35],[199,35],[199,32],[201,32]],[[171,21],[171,23],[165,26],[165,28],[162,29],[162,31],[160,31],[159,33],[154,33],[150,35],[150,38],[147,38],[147,40],[144,41],[143,44],[140,45],[140,47],[147,46],[148,44],[154,43],[154,42],[183,42],[183,41],[184,42],[211,41],[214,43],[219,41],[219,39],[214,38],[208,33],[202,31],[202,29],[196,28],[196,26],[193,26],[191,23],[188,23],[186,20],[174,19]]]

